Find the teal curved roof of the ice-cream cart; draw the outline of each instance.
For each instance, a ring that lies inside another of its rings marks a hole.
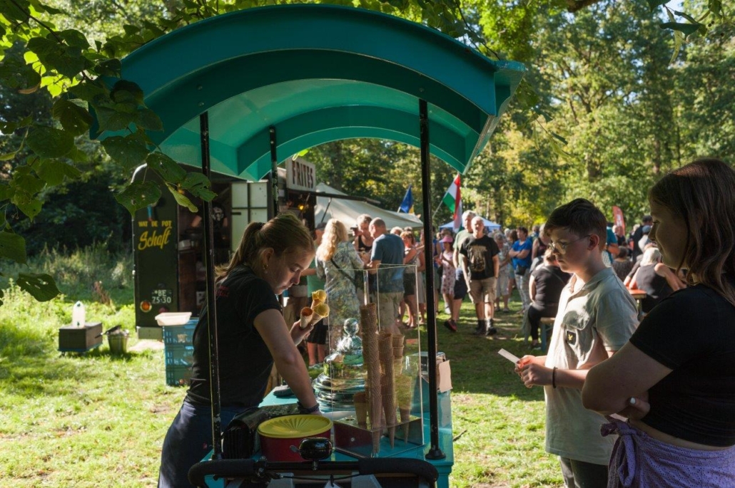
[[[177,29],[123,59],[163,122],[148,135],[200,165],[199,119],[209,112],[212,170],[259,179],[279,159],[339,139],[419,145],[419,100],[430,151],[459,172],[484,147],[523,77],[433,29],[370,10],[282,5]]]

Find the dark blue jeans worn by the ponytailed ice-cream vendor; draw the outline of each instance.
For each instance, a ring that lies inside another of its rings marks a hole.
[[[246,407],[222,407],[222,429],[227,427],[235,415],[245,410]],[[158,486],[193,487],[187,478],[189,468],[204,459],[209,451],[212,451],[212,407],[184,400],[163,440]]]

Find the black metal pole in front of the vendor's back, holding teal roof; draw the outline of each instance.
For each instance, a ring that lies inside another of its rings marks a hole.
[[[212,177],[209,167],[209,114],[199,116],[201,172]],[[212,230],[212,203],[204,202],[204,261],[207,266],[207,328],[209,329],[209,394],[212,398],[212,459],[222,459],[222,406],[220,404],[220,349],[217,341],[215,301],[215,234]]]

